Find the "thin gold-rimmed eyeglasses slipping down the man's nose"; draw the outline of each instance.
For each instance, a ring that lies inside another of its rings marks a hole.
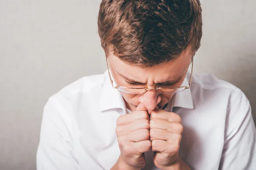
[[[178,88],[185,88],[185,89],[189,89],[191,87],[191,83],[192,83],[192,74],[193,74],[193,60],[194,60],[194,57],[192,57],[192,66],[191,66],[191,74],[190,74],[190,79],[189,79],[189,86],[180,86],[180,87],[173,87],[173,88],[159,88],[159,87],[156,87],[156,88],[153,88],[153,89],[149,89],[147,86],[144,87],[144,88],[130,88],[130,89],[145,89],[145,92],[146,93],[147,91],[157,91],[158,93],[158,89],[178,89]],[[118,90],[118,88],[128,88],[128,87],[123,87],[123,86],[114,86],[113,85],[113,79],[111,78],[111,74],[110,74],[110,71],[109,71],[109,66],[108,66],[108,59],[107,59],[107,56],[106,56],[106,62],[107,62],[107,68],[108,68],[108,76],[109,76],[109,79],[111,81],[111,85],[113,88],[116,88]],[[184,89],[184,90],[185,90]],[[183,90],[183,91],[184,91]],[[181,92],[181,91],[180,91]],[[126,92],[123,92],[123,93],[126,93]],[[142,93],[142,94],[144,94]],[[158,93],[158,94],[161,94],[161,93]],[[164,94],[164,93],[163,93]],[[168,94],[168,93],[166,93]],[[169,94],[175,94],[175,93],[169,93]]]

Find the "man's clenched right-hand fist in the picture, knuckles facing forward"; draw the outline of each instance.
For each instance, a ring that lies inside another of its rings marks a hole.
[[[176,113],[154,110],[150,115],[150,140],[154,151],[154,164],[161,170],[176,167],[180,161],[181,118]],[[176,170],[176,168],[174,168]],[[178,169],[178,168],[177,168]]]

